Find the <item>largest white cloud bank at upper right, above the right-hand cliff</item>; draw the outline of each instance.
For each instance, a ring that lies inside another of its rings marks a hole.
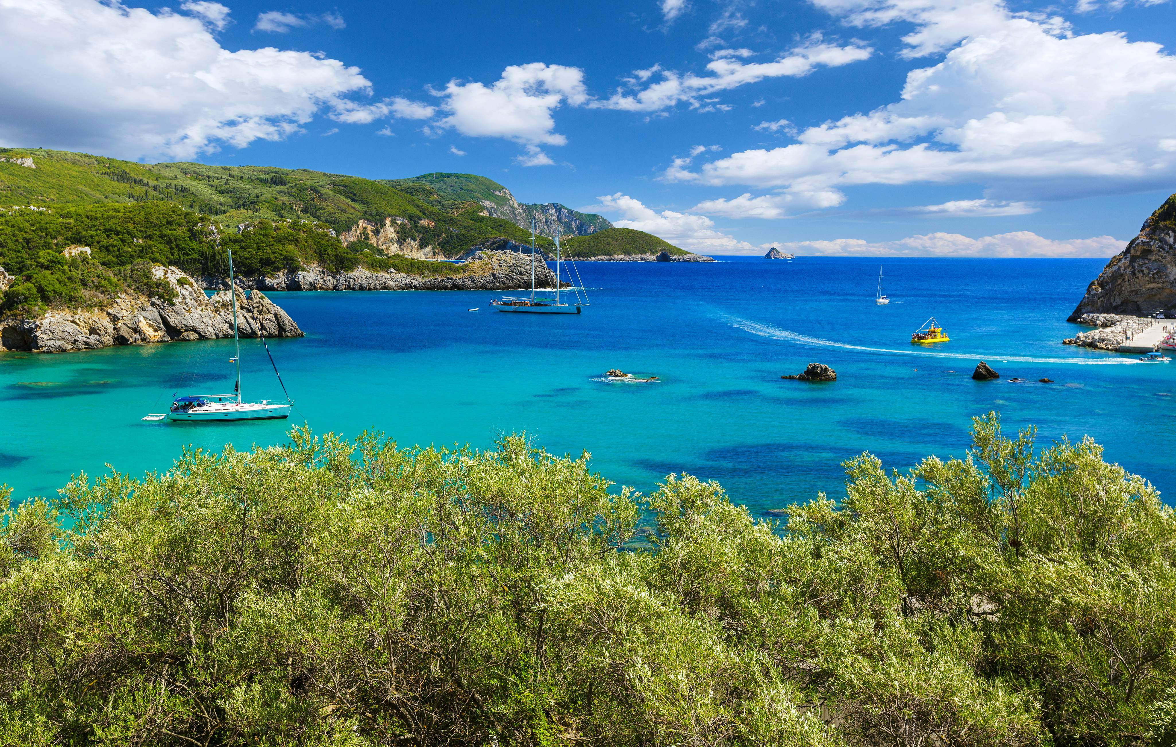
[[[978,183],[1005,206],[1176,179],[1176,147],[1168,147],[1176,56],[1157,43],[1121,33],[1075,35],[1061,19],[1015,14],[1000,0],[815,2],[853,26],[913,23],[903,36],[907,56],[949,52],[911,70],[894,103],[809,127],[779,148],[697,169],[675,161],[666,179],[794,195]]]

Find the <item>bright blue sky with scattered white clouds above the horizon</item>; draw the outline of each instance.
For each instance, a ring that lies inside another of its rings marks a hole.
[[[684,248],[1110,256],[1176,191],[1169,1],[0,0],[0,143],[483,174]]]

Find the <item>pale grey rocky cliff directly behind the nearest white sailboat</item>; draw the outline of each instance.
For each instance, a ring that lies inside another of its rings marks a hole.
[[[0,350],[68,352],[112,345],[172,341],[215,339],[233,336],[233,309],[228,291],[213,297],[175,268],[154,268],[156,280],[167,280],[175,291],[172,301],[122,294],[103,309],[55,310],[40,318],[0,319]],[[294,319],[282,309],[253,292],[236,290],[238,319],[242,337],[301,337]]]

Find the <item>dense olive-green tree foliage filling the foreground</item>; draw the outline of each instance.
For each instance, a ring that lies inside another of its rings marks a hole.
[[[0,743],[1176,743],[1176,520],[1089,440],[756,520],[523,437],[292,432],[0,526]]]

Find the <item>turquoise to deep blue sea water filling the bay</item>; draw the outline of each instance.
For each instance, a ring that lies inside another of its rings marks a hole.
[[[272,341],[298,422],[402,445],[527,431],[555,452],[588,450],[613,480],[652,489],[669,472],[720,480],[754,510],[842,491],[838,463],[863,450],[907,467],[962,456],[969,419],[1000,410],[1043,439],[1089,433],[1107,457],[1176,489],[1176,365],[1077,350],[1064,322],[1101,261],[876,260],[586,263],[580,316],[490,311],[493,294],[274,294],[307,332]],[[479,307],[480,311],[467,309]],[[913,348],[936,316],[951,342]],[[166,469],[186,444],[285,440],[289,422],[145,423],[178,389],[232,390],[232,341],[32,356],[0,354],[0,482],[49,494],[74,472]],[[1002,381],[974,382],[981,358]],[[248,398],[281,390],[243,343]],[[834,384],[781,381],[810,362]],[[620,368],[661,383],[609,384]],[[1031,383],[1010,383],[1009,377]],[[1054,384],[1038,384],[1048,377]]]

